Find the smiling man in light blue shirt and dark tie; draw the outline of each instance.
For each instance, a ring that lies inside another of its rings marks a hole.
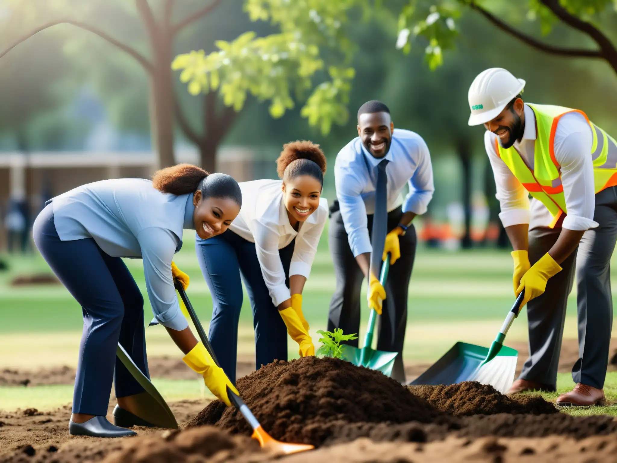
[[[360,330],[360,289],[369,278],[371,229],[375,214],[378,166],[385,169],[387,231],[384,255],[391,252],[386,287],[370,282],[369,299],[385,289],[377,349],[399,352],[392,377],[405,381],[402,350],[407,324],[407,291],[416,249],[413,217],[426,212],[433,198],[433,167],[428,147],[420,135],[396,129],[390,111],[379,101],[368,101],[358,110],[358,137],[336,157],[334,179],[337,200],[331,207],[329,248],[336,272],[336,291],[330,303],[328,330]],[[385,166],[385,167],[384,167]],[[409,193],[403,198],[405,185]],[[383,211],[382,211],[383,212]],[[376,244],[379,248],[381,243]],[[376,288],[379,286],[379,288]],[[377,293],[376,293],[377,291]],[[379,296],[379,299],[383,297]],[[371,302],[370,302],[371,304]],[[349,341],[357,346],[358,341]]]

